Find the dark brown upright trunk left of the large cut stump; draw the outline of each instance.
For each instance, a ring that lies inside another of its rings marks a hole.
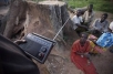
[[[13,34],[18,33],[23,28],[23,22],[25,20],[27,2],[22,0],[12,0],[10,10],[7,14],[7,23],[3,35],[6,38],[11,38]],[[17,28],[17,30],[16,30]]]

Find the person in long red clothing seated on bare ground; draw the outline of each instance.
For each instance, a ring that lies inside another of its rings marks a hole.
[[[83,71],[84,74],[97,74],[96,70],[89,57],[91,49],[90,42],[88,41],[88,33],[81,33],[80,40],[76,40],[71,50],[71,61],[75,66]]]

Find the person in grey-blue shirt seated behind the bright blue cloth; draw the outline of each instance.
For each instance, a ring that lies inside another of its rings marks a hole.
[[[100,19],[95,19],[93,24],[90,28],[90,32],[93,32],[95,36],[100,36],[102,33],[107,32],[109,21],[107,13],[103,13]]]

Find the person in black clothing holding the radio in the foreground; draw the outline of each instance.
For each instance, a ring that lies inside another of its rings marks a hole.
[[[20,43],[24,41],[18,41]],[[0,34],[0,74],[40,74],[32,62],[18,44]]]

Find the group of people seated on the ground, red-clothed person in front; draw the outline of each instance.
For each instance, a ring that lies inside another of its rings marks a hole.
[[[72,45],[71,61],[84,74],[97,74],[89,57],[92,46],[88,38],[89,34],[100,38],[104,32],[113,32],[113,22],[109,24],[107,17],[107,13],[103,13],[100,19],[94,20],[93,4],[90,4],[86,11],[78,10],[72,18],[72,28],[80,35],[80,40]]]

